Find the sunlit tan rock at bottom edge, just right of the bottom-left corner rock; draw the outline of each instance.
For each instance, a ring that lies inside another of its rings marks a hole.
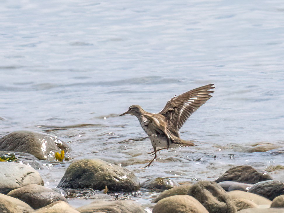
[[[56,201],[32,213],[80,213],[67,202]]]

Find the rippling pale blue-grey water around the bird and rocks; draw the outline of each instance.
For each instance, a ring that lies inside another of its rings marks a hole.
[[[1,136],[57,135],[72,141],[72,157],[122,164],[140,181],[214,180],[233,165],[284,164],[282,152],[243,148],[283,146],[280,0],[6,0],[0,26]],[[181,129],[197,146],[161,151],[154,167],[140,169],[151,143],[135,117],[118,115],[132,104],[158,112],[174,95],[209,83],[213,98]],[[45,183],[57,186],[67,166],[40,170]],[[284,180],[281,171],[272,176]]]

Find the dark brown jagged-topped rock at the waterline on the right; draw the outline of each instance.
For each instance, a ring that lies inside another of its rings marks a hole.
[[[257,171],[251,166],[235,166],[227,170],[215,182],[236,181],[245,184],[256,184],[260,181],[272,180],[272,177],[266,171]]]

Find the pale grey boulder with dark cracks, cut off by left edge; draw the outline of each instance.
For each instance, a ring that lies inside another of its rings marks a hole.
[[[9,191],[28,184],[43,185],[43,179],[34,168],[20,163],[0,162],[0,193]]]

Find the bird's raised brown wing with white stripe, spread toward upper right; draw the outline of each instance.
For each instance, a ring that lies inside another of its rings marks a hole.
[[[159,114],[167,118],[167,124],[176,136],[178,136],[178,131],[189,116],[212,97],[209,94],[214,92],[210,91],[215,88],[213,85],[208,84],[173,97],[167,102],[164,109],[159,112]]]

